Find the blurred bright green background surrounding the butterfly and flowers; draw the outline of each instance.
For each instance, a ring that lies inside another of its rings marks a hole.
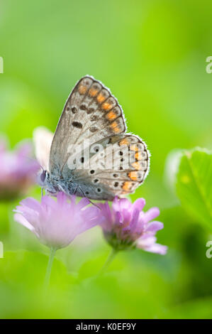
[[[93,75],[110,87],[128,131],[152,154],[131,197],[158,206],[162,257],[123,252],[101,278],[109,247],[99,227],[57,252],[43,299],[48,249],[0,205],[1,318],[212,318],[210,231],[188,216],[167,183],[173,149],[212,149],[211,1],[2,0],[0,131],[14,146],[36,126],[55,131],[75,82]],[[1,167],[0,167],[1,168]],[[40,198],[40,188],[30,195]]]

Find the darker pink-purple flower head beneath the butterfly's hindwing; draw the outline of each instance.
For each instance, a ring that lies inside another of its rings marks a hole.
[[[158,208],[143,212],[145,200],[139,198],[130,203],[127,198],[115,198],[111,208],[108,203],[99,204],[99,220],[104,237],[113,249],[141,248],[147,252],[166,254],[167,247],[156,243],[155,234],[162,230],[162,222],[152,221],[159,214]]]

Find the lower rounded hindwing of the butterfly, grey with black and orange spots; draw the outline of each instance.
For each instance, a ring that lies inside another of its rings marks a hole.
[[[91,145],[89,155],[84,153],[83,163],[79,159],[73,171],[72,183],[77,195],[94,200],[133,193],[149,171],[150,153],[138,136],[110,136]]]

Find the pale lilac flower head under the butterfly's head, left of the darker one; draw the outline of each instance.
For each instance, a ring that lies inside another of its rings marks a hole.
[[[58,193],[57,198],[43,196],[41,203],[34,198],[21,201],[15,212],[16,222],[32,231],[40,242],[53,249],[67,247],[77,235],[99,222],[99,208],[89,204],[87,198],[76,202],[74,195],[67,198]]]

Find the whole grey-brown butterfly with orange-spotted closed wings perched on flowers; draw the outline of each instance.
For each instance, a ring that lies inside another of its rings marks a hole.
[[[138,136],[126,134],[123,110],[99,80],[77,82],[53,136],[35,131],[35,154],[43,167],[40,185],[93,200],[133,193],[147,176],[150,153]]]

